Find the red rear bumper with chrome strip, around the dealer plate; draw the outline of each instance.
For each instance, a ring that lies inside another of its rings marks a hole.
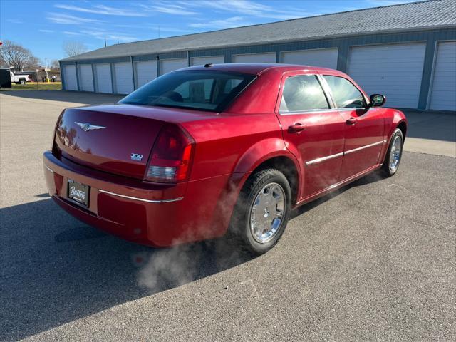
[[[224,192],[229,175],[161,185],[58,160],[50,151],[43,166],[49,195],[66,212],[140,244],[166,247],[219,237],[234,206]],[[90,186],[88,207],[68,198],[68,180]]]

